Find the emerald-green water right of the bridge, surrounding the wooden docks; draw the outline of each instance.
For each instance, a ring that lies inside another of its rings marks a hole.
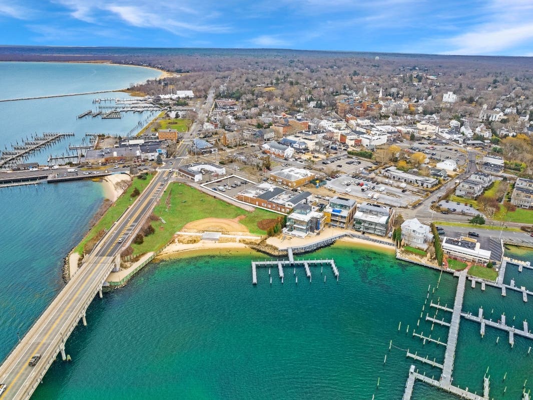
[[[411,333],[415,327],[446,340],[447,329],[431,331],[423,319],[416,324],[431,299],[453,303],[455,278],[443,275],[433,293],[438,271],[388,253],[335,245],[305,257],[335,258],[338,283],[330,269],[324,268],[324,283],[320,267],[311,267],[311,284],[297,269],[296,285],[287,268],[285,283],[272,270],[270,285],[261,268],[253,286],[251,257],[218,251],[146,267],[123,289],[93,301],[88,326],[67,342],[72,362],[54,363],[34,398],[400,399],[411,364],[439,378],[440,370],[400,349],[442,362],[443,346],[424,346]],[[469,286],[465,309],[482,305],[529,319],[531,307],[519,300]],[[481,339],[479,326],[464,319],[459,341],[454,383],[481,393],[489,366],[491,397],[502,398],[507,386],[505,398],[520,398],[533,343],[515,338],[511,349],[506,335],[491,329]],[[418,383],[414,393],[413,400],[454,398]]]

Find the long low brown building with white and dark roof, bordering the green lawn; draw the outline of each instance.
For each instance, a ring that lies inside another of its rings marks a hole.
[[[311,197],[309,191],[294,193],[267,182],[261,182],[250,188],[245,188],[235,196],[241,202],[284,214],[289,214],[298,204],[306,204],[309,197]]]

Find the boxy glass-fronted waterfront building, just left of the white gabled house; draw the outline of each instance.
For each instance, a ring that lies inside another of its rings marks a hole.
[[[361,204],[353,215],[353,228],[379,236],[387,236],[394,222],[394,210],[384,205]]]

